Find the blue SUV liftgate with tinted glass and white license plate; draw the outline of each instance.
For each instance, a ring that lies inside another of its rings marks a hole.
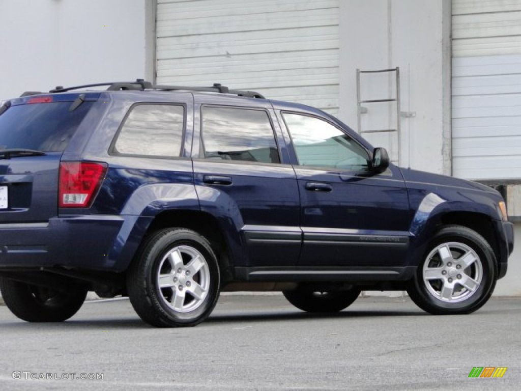
[[[16,99],[0,109],[0,224],[46,222],[57,214],[60,157],[96,96]]]

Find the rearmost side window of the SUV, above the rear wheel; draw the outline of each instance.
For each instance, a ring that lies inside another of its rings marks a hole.
[[[115,152],[177,157],[181,153],[184,107],[168,104],[133,106],[116,140]]]

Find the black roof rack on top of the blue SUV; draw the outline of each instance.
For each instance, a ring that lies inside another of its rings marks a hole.
[[[228,87],[219,83],[214,83],[212,87],[187,87],[183,85],[153,85],[149,81],[143,79],[137,79],[136,81],[130,82],[107,82],[107,83],[96,83],[96,84],[84,84],[76,85],[75,87],[63,87],[59,85],[54,90],[49,91],[50,93],[56,92],[67,92],[71,90],[85,89],[89,87],[107,87],[107,91],[145,91],[145,90],[157,90],[157,91],[201,91],[201,92],[219,92],[223,94],[233,94],[237,96],[255,97],[258,99],[265,99],[265,97],[255,91],[242,91],[242,90],[230,90]],[[22,96],[34,95],[41,92],[24,92]]]

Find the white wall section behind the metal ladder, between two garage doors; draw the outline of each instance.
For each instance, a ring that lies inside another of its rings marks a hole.
[[[340,113],[357,127],[356,69],[400,67],[401,149],[385,134],[364,135],[386,146],[401,166],[450,174],[449,0],[350,0],[340,2]],[[361,79],[362,99],[396,95],[383,75]],[[362,130],[396,127],[393,103],[365,104]],[[359,130],[359,129],[358,129]]]

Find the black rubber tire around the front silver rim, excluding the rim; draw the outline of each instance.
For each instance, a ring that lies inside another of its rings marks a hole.
[[[423,258],[417,267],[413,287],[416,294],[413,292],[413,295],[411,296],[413,299],[415,299],[415,301],[419,300],[420,303],[417,302],[417,304],[429,312],[468,313],[475,311],[489,299],[495,287],[495,282],[497,279],[497,266],[492,249],[488,245],[488,242],[486,242],[486,240],[483,239],[480,235],[474,233],[472,230],[462,228],[463,227],[449,227],[441,229],[436,235],[436,238],[429,243]],[[423,279],[423,268],[425,263],[428,262],[428,255],[437,246],[446,242],[463,243],[464,245],[472,248],[472,250],[475,251],[479,256],[479,260],[481,261],[483,271],[481,283],[479,284],[476,292],[474,292],[471,297],[461,302],[444,302],[437,299],[436,297],[433,297],[432,294],[428,291]]]

